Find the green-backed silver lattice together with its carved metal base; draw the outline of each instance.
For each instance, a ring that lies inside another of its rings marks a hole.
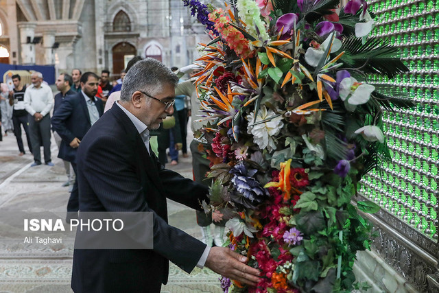
[[[439,1],[368,2],[379,22],[372,34],[401,49],[410,72],[369,82],[398,87],[415,106],[385,112],[392,161],[362,181],[361,196],[381,206],[375,250],[420,292],[439,291]]]

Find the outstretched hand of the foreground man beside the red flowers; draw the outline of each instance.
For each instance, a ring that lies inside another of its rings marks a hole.
[[[248,285],[257,285],[259,270],[247,266],[246,261],[246,257],[234,253],[230,248],[212,247],[205,266],[224,277]]]

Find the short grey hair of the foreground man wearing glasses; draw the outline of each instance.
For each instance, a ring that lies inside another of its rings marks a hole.
[[[178,84],[178,77],[162,62],[146,58],[134,64],[126,73],[121,89],[121,101],[128,102],[135,91],[156,95],[164,84]]]

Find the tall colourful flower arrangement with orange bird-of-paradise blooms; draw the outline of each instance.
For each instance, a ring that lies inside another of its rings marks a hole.
[[[224,292],[358,288],[355,253],[371,237],[358,211],[379,209],[355,202],[359,181],[390,159],[383,108],[412,105],[367,78],[407,71],[398,49],[369,36],[364,0],[184,2],[212,38],[193,75],[214,179],[203,205],[262,276],[250,288],[222,278]]]

